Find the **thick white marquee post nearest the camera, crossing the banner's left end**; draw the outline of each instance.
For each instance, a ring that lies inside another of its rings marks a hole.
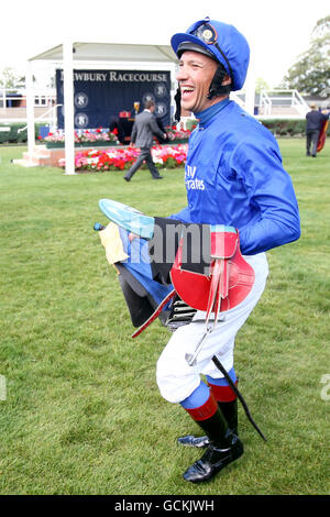
[[[66,40],[63,44],[65,174],[75,174],[75,111],[73,53],[73,42]]]

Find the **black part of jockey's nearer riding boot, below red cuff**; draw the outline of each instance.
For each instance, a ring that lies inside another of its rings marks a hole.
[[[210,418],[199,420],[197,424],[206,432],[209,444],[200,460],[184,473],[184,479],[191,483],[210,480],[226,465],[243,454],[243,443],[229,429],[219,408]]]

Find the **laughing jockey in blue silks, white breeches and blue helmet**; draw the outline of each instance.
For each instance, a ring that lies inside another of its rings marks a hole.
[[[232,25],[205,19],[175,34],[170,43],[179,59],[180,107],[199,121],[189,139],[185,167],[188,206],[173,218],[238,229],[241,252],[255,274],[245,299],[219,314],[193,366],[185,358],[194,353],[205,331],[202,311],[174,332],[157,363],[162,396],[180,404],[207,437],[179,439],[183,444],[207,446],[201,459],[184,473],[186,481],[196,483],[211,479],[243,453],[237,396],[211,358],[219,358],[235,383],[234,339],[265,288],[265,252],[297,240],[300,221],[276,140],[229,99],[230,91],[240,90],[245,80],[250,57],[245,37]]]

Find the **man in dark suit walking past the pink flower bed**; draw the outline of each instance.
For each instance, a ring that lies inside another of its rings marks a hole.
[[[153,135],[166,139],[167,134],[161,131],[156,118],[153,114],[155,110],[155,103],[153,100],[147,100],[144,103],[144,110],[142,113],[139,113],[135,118],[135,122],[132,129],[131,134],[131,145],[136,145],[140,147],[141,153],[136,162],[124,175],[124,179],[130,182],[133,174],[141,167],[145,161],[153,179],[162,179],[163,176],[160,175],[157,167],[153,162],[151,154],[151,147],[153,146]]]

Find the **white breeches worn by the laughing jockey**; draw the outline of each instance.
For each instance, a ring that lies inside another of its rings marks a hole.
[[[254,285],[241,304],[219,315],[216,329],[207,338],[196,364],[189,366],[185,355],[194,354],[206,330],[204,311],[197,311],[189,324],[179,327],[163,350],[156,375],[161,394],[169,403],[180,403],[187,398],[199,386],[200,374],[222,377],[212,362],[213,355],[219,358],[227,371],[232,369],[235,336],[257,304],[268,274],[265,253],[245,255],[244,258],[254,268]]]

